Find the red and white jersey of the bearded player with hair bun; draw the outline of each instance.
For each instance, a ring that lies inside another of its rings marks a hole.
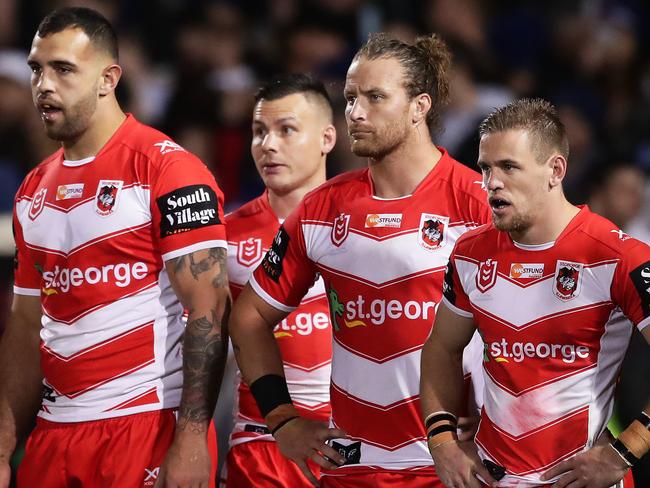
[[[325,183],[284,222],[255,271],[253,289],[285,311],[298,306],[314,273],[324,279],[334,328],[332,421],[351,437],[332,445],[349,460],[345,472],[432,464],[420,352],[454,243],[488,219],[479,175],[443,151],[406,197],[374,196],[368,169]]]

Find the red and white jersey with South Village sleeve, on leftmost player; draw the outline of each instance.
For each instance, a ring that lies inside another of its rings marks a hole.
[[[225,248],[222,208],[205,165],[132,116],[94,158],[59,150],[27,175],[14,293],[41,297],[41,417],[179,405],[183,308],[164,261]]]

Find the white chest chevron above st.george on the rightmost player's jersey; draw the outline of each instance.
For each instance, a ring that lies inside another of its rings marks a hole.
[[[526,288],[498,276],[494,287],[486,293],[481,293],[476,289],[475,284],[477,264],[458,257],[454,262],[462,287],[466,293],[469,291],[472,304],[489,315],[512,324],[515,328],[531,325],[541,317],[562,314],[578,308],[589,308],[610,301],[610,286],[616,271],[616,263],[611,262],[593,267],[585,266],[580,277],[582,280],[580,294],[571,300],[562,301],[553,292],[554,276]],[[508,299],[498,299],[499,297],[508,297]]]

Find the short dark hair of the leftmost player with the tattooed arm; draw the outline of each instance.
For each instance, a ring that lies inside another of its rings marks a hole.
[[[117,61],[117,35],[106,17],[86,7],[65,7],[50,12],[38,26],[39,37],[47,37],[65,29],[81,29],[97,48],[105,50]]]

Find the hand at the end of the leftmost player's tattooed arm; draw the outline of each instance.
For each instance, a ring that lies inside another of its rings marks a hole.
[[[177,432],[155,488],[208,488],[210,455],[203,433]]]

